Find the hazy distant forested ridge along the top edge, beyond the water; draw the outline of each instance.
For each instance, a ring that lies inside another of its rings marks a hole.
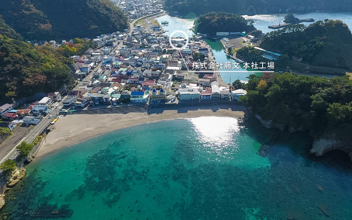
[[[211,11],[239,14],[282,12],[352,11],[352,1],[346,0],[165,0],[170,13],[201,15]]]

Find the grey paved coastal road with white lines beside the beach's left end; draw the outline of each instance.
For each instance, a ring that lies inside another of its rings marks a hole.
[[[57,105],[56,103],[53,103],[53,105]],[[37,125],[34,125],[32,129],[24,136],[15,146],[7,146],[7,147],[1,147],[0,146],[0,164],[4,162],[5,160],[11,158],[14,159],[17,155],[17,149],[16,147],[21,143],[21,142],[27,142],[27,143],[32,143],[33,140],[38,136],[38,134],[42,133],[42,131],[51,123],[52,120],[55,119],[56,117],[56,112],[58,113],[58,109],[61,109],[63,107],[62,102],[58,103],[57,109],[51,108],[50,112],[44,117]],[[52,118],[49,118],[49,115],[52,115]]]

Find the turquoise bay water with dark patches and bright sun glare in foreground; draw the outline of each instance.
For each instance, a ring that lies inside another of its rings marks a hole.
[[[315,158],[310,144],[254,119],[138,125],[34,160],[0,214],[38,219],[33,210],[64,205],[72,220],[352,219],[348,157]]]

